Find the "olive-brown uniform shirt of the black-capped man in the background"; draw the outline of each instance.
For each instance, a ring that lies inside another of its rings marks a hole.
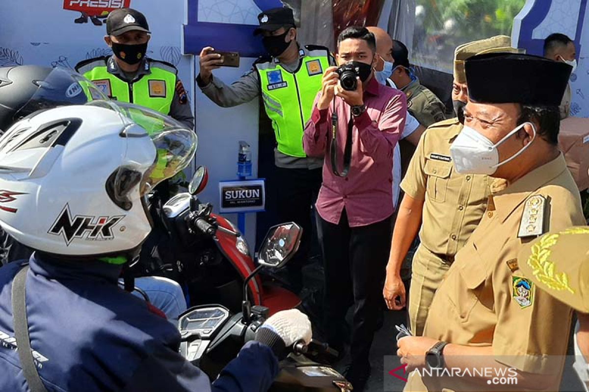
[[[407,96],[407,110],[426,128],[446,119],[446,106],[415,78],[401,89]]]

